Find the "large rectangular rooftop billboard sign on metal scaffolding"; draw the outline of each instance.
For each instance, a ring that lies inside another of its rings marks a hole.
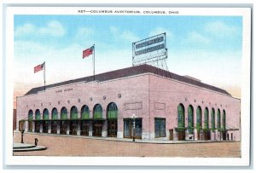
[[[144,64],[167,58],[166,33],[132,43],[132,65]]]

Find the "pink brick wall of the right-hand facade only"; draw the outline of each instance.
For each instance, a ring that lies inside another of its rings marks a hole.
[[[188,124],[188,107],[194,108],[194,124],[196,125],[196,108],[201,107],[202,122],[204,120],[204,111],[209,110],[209,127],[211,127],[211,110],[215,110],[215,120],[217,125],[217,110],[221,112],[221,121],[223,110],[226,112],[226,126],[240,128],[240,100],[223,95],[209,89],[203,89],[189,84],[184,84],[172,79],[159,78],[150,75],[150,129],[154,130],[154,117],[166,118],[166,130],[177,127],[177,106],[181,103],[185,108],[185,126]],[[164,103],[165,109],[155,109],[155,103]],[[222,122],[221,122],[222,124]],[[194,127],[195,127],[194,125]],[[203,125],[203,123],[202,123]],[[240,140],[240,131],[232,131],[236,140]]]

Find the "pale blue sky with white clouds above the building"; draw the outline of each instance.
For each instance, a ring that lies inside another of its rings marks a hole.
[[[43,85],[131,66],[131,43],[166,32],[170,72],[212,85],[241,84],[240,16],[15,15],[15,82]]]

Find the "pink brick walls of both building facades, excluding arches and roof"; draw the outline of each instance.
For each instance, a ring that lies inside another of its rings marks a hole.
[[[64,92],[65,89],[72,90]],[[62,90],[62,92],[58,92],[58,90]],[[119,94],[121,94],[121,98],[118,97]],[[103,96],[106,98],[103,99]],[[90,97],[92,97],[91,101]],[[115,102],[119,109],[118,131],[120,133],[124,130],[123,118],[131,118],[133,113],[137,115],[137,118],[143,118],[143,136],[145,138],[154,138],[154,117],[166,118],[166,130],[173,129],[177,127],[177,106],[180,103],[185,107],[185,118],[188,117],[189,105],[194,107],[194,122],[196,122],[196,107],[201,107],[202,119],[206,107],[209,109],[209,119],[211,119],[211,109],[214,108],[217,112],[219,108],[221,115],[225,110],[227,124],[240,128],[240,100],[209,89],[152,74],[100,83],[69,84],[46,89],[36,95],[18,97],[17,116],[18,120],[27,118],[28,111],[32,109],[33,118],[35,118],[35,111],[39,109],[41,118],[43,118],[44,108],[48,108],[49,118],[51,118],[51,110],[56,107],[60,118],[61,107],[67,107],[69,118],[71,107],[76,106],[80,112],[81,107],[87,105],[90,108],[90,118],[92,118],[93,107],[96,104],[101,104],[103,118],[106,118],[110,102]],[[137,109],[134,106],[134,109],[127,109],[127,103],[129,103],[128,107],[131,107],[131,104],[135,104],[136,107],[141,104],[141,108]],[[187,126],[187,119],[185,122]],[[209,126],[211,127],[211,124]],[[236,133],[236,140],[239,140],[240,131],[234,131],[234,133]]]

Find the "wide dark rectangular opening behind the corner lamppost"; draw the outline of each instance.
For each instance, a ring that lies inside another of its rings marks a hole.
[[[135,131],[133,130],[133,119],[127,118],[124,119],[124,137],[132,138],[133,136],[137,139],[142,139],[143,134],[143,119],[136,118],[135,119]]]

